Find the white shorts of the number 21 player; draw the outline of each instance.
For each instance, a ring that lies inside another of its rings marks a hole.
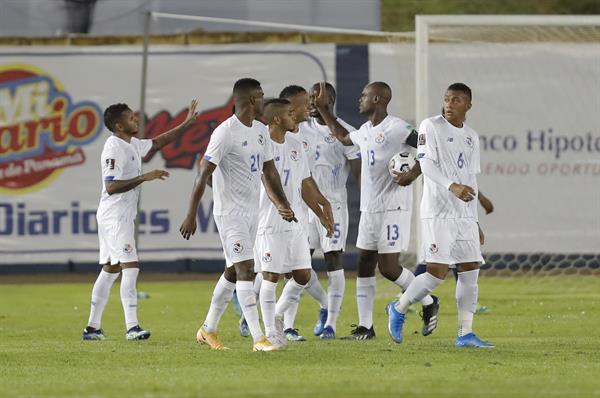
[[[254,258],[254,241],[258,228],[258,215],[214,216],[227,267]]]

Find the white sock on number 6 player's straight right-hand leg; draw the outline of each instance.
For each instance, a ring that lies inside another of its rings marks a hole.
[[[479,270],[459,272],[456,283],[456,306],[458,307],[458,337],[473,332],[473,315],[477,309],[477,278]]]

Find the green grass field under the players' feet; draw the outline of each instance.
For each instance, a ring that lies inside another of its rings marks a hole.
[[[110,340],[83,342],[92,281],[0,285],[0,397],[594,397],[600,396],[598,277],[482,278],[476,332],[492,350],[457,350],[454,282],[438,294],[440,327],[417,334],[412,314],[405,342],[391,342],[384,306],[396,293],[378,280],[374,341],[320,341],[282,352],[253,353],[231,310],[221,323],[231,348],[195,342],[214,282],[144,282],[140,300],[148,341],[124,339],[118,283],[105,312]],[[216,280],[216,276],[215,276]],[[356,321],[348,280],[338,334]],[[297,327],[310,335],[317,306],[302,299]]]

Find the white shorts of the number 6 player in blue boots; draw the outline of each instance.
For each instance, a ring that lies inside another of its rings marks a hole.
[[[470,218],[421,220],[425,261],[438,264],[483,262],[477,222]]]

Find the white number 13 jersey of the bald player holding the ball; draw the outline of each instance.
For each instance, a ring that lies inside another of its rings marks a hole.
[[[350,133],[350,139],[360,148],[361,212],[411,209],[412,187],[396,184],[388,170],[392,156],[412,151],[406,143],[411,131],[409,123],[388,115],[377,126],[367,121],[360,129]]]

